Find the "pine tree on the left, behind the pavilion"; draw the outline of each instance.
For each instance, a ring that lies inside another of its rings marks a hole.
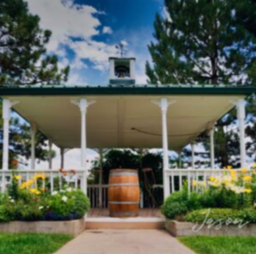
[[[23,0],[0,1],[0,86],[58,85],[67,81],[69,67],[58,68],[56,55],[46,54],[51,32],[40,28],[40,19]],[[47,159],[46,137],[36,135],[36,157]],[[10,168],[17,155],[30,156],[30,128],[11,121]],[[2,163],[2,105],[0,102],[0,163]],[[1,167],[1,166],[0,166]]]

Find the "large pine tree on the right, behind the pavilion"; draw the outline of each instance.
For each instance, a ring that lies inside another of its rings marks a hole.
[[[148,82],[251,84],[256,79],[256,5],[252,2],[165,0],[164,15],[155,18],[155,41],[148,46],[153,61],[146,63]],[[216,125],[220,166],[238,166],[238,157],[231,156],[238,155],[237,133],[224,131],[235,121],[236,113],[231,112]]]

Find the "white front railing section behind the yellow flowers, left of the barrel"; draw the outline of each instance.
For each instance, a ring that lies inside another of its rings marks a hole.
[[[53,193],[54,190],[68,186],[85,192],[85,171],[81,170],[0,170],[1,192],[5,192],[11,184],[12,176],[18,176],[18,185],[27,189],[40,187]]]

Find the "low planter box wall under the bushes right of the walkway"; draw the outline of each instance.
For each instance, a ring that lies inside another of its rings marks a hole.
[[[222,227],[215,226],[208,227],[207,225],[194,224],[191,222],[179,222],[179,221],[165,221],[165,228],[173,236],[255,236],[256,235],[256,224],[244,225],[239,228],[238,225],[222,225]],[[196,226],[196,228],[194,228]],[[200,230],[195,230],[199,229]]]

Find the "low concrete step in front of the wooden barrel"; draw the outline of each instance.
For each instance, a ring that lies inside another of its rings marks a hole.
[[[86,218],[85,229],[163,229],[164,218]]]

